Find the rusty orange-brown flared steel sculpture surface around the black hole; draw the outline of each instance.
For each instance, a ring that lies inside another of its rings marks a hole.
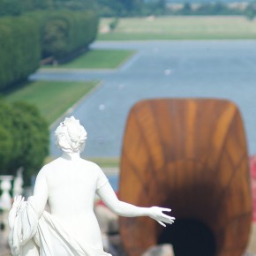
[[[119,196],[142,207],[170,207],[177,220],[199,220],[213,232],[216,256],[241,256],[252,198],[237,107],[214,99],[157,99],[133,106],[124,133]],[[155,245],[162,232],[147,217],[121,218],[120,228],[129,256]]]

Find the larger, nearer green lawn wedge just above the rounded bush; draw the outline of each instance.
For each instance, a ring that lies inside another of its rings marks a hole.
[[[8,102],[28,102],[38,107],[52,124],[99,82],[36,81],[7,94]]]

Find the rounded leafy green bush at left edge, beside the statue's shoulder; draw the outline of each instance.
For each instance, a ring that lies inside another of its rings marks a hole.
[[[49,153],[48,124],[38,110],[26,103],[0,100],[0,175],[25,169],[26,184]]]

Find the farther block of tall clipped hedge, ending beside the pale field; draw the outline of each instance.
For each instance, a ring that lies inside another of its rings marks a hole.
[[[99,19],[94,11],[34,11],[41,27],[41,56],[56,59],[86,48],[95,40]]]

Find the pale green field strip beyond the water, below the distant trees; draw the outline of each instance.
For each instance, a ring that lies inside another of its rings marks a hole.
[[[100,31],[111,19],[101,19]],[[98,40],[256,39],[256,19],[241,16],[172,16],[119,19],[117,28]]]

